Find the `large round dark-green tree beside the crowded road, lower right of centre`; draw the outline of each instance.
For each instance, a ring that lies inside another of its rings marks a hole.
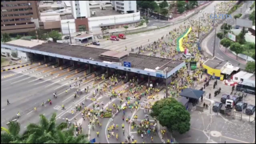
[[[190,129],[190,114],[185,107],[174,98],[164,98],[156,101],[152,106],[153,117],[159,120],[162,126],[169,131],[178,131],[184,134]]]

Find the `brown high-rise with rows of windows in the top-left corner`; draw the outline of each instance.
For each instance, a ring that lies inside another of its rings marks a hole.
[[[26,33],[39,28],[37,0],[1,0],[1,33]]]

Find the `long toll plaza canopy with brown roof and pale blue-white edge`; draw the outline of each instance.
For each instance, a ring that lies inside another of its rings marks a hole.
[[[2,43],[1,48],[90,63],[160,78],[169,78],[185,66],[185,62],[179,60],[54,42],[14,40]]]

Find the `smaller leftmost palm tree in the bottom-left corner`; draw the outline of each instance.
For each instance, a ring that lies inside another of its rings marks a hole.
[[[18,122],[10,121],[7,125],[7,128],[1,126],[1,143],[19,143],[21,140],[21,135],[19,135],[19,131],[21,130],[21,125]]]

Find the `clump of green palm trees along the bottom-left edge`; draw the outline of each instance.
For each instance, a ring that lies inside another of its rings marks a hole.
[[[50,120],[40,115],[39,124],[30,123],[22,135],[19,135],[20,126],[18,122],[10,121],[8,129],[1,127],[1,131],[4,131],[1,133],[1,143],[88,143],[87,135],[74,136],[74,125],[69,129],[66,129],[66,122],[56,125],[56,113]]]

